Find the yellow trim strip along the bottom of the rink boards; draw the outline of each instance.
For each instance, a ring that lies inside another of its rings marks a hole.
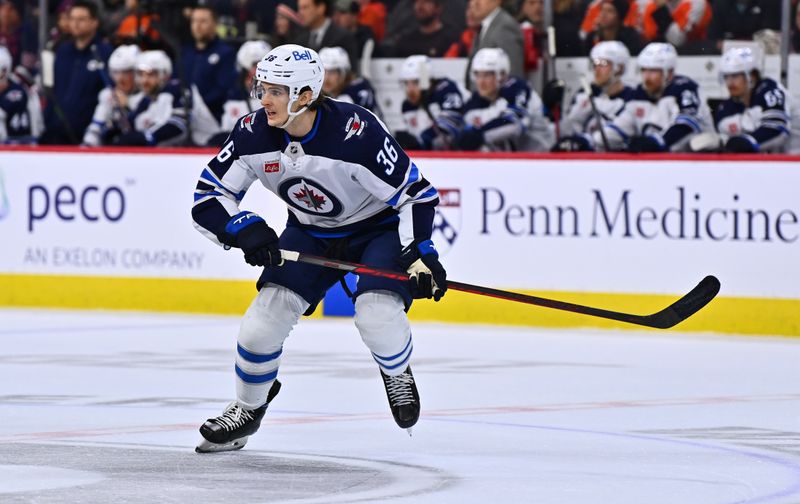
[[[631,313],[652,313],[676,296],[520,291]],[[0,275],[0,306],[141,310],[240,315],[255,296],[252,281]],[[320,317],[317,310],[314,317]],[[679,331],[800,336],[800,300],[721,297],[680,324]],[[439,303],[418,301],[411,319],[534,327],[636,329],[637,326],[560,310],[448,292]],[[644,329],[644,328],[642,328]]]

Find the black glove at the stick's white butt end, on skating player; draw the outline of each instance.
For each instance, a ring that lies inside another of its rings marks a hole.
[[[220,241],[239,247],[244,260],[252,266],[280,266],[283,264],[278,247],[278,235],[253,212],[239,212],[225,225],[225,237]]]

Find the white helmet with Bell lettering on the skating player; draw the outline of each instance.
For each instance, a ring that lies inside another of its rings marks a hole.
[[[303,89],[311,89],[311,101],[319,98],[325,82],[325,68],[317,51],[297,44],[284,44],[271,50],[256,66],[251,96],[258,100],[261,99],[260,82],[289,88],[289,103],[286,105],[289,119],[281,125],[285,128],[308,109],[306,105],[292,112],[292,106],[300,99]]]

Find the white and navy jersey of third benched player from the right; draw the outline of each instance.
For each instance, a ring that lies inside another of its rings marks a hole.
[[[624,86],[622,91],[609,96],[599,86],[592,84],[592,97],[597,112],[603,122],[612,121],[625,108],[625,104],[633,98],[633,88]],[[567,114],[561,120],[562,136],[594,133],[598,129],[597,120],[592,110],[589,95],[583,89],[572,97]]]

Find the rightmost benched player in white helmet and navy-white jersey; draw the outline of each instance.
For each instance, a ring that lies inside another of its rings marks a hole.
[[[800,110],[774,80],[762,77],[749,48],[729,49],[720,73],[730,93],[714,114],[726,152],[800,153]]]

